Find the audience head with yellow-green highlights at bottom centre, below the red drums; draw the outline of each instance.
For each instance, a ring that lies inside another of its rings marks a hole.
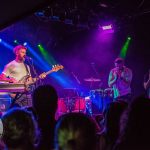
[[[95,150],[95,123],[85,114],[62,116],[55,129],[56,150]]]

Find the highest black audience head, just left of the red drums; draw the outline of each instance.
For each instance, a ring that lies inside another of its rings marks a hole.
[[[33,91],[33,107],[37,116],[55,116],[57,110],[58,95],[51,85],[41,85]]]

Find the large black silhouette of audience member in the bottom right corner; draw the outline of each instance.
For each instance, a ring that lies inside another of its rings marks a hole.
[[[124,132],[118,139],[114,150],[150,149],[150,100],[140,96],[129,108]]]

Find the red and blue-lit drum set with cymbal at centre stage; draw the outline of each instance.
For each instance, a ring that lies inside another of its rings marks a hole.
[[[90,83],[91,86],[101,82],[100,79],[93,77],[85,78],[84,81]],[[86,97],[81,97],[76,88],[66,88],[63,93],[64,98],[58,100],[58,112],[61,114],[69,112],[83,112],[91,115],[101,113],[113,99],[112,88],[91,89]]]

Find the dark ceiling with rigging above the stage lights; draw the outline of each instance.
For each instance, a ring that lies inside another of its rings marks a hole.
[[[50,19],[57,16],[61,20],[71,19],[74,24],[88,23],[90,26],[105,19],[127,24],[139,17],[150,17],[149,0],[1,0],[0,4],[0,29],[33,12],[42,12]]]

